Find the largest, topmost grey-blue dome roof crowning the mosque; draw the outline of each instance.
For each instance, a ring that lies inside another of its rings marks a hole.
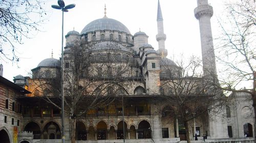
[[[94,32],[96,30],[117,30],[120,32],[131,34],[130,31],[123,25],[123,23],[115,19],[107,18],[106,16],[90,22],[86,27],[83,28],[81,34],[86,34],[87,32]]]

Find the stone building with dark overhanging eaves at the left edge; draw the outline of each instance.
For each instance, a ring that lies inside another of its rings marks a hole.
[[[0,142],[17,142],[23,130],[23,105],[19,98],[31,93],[0,76]]]

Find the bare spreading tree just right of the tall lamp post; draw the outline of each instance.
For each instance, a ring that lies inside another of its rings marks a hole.
[[[86,116],[90,110],[110,105],[122,94],[128,94],[124,87],[131,84],[133,61],[130,58],[121,59],[118,46],[108,41],[106,44],[74,42],[66,47],[63,87],[65,112],[70,118],[71,142],[75,142],[77,118]],[[59,78],[54,80],[60,82]],[[34,87],[38,87],[42,99],[61,109],[60,84],[54,80],[39,76],[33,80]]]

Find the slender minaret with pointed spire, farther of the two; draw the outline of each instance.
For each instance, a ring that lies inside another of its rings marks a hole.
[[[157,31],[158,34],[156,35],[158,41],[158,50],[157,53],[161,54],[162,58],[167,56],[167,50],[165,49],[165,39],[166,35],[163,33],[163,16],[161,11],[161,6],[158,0],[158,8],[157,8]]]

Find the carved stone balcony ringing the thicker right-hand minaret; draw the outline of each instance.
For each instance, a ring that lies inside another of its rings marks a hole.
[[[195,17],[199,19],[202,15],[211,17],[214,14],[214,10],[210,5],[201,5],[194,10]]]

